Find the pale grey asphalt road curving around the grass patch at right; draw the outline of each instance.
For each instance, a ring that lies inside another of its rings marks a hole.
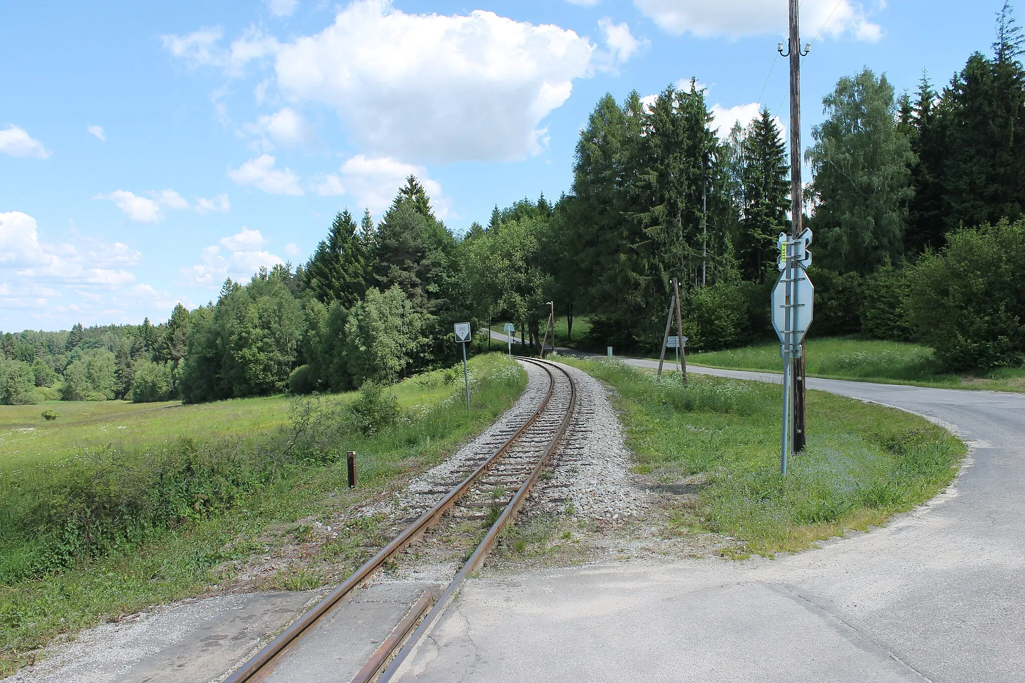
[[[808,386],[946,425],[973,446],[957,480],[885,528],[776,560],[473,581],[399,680],[1025,680],[1025,395]]]

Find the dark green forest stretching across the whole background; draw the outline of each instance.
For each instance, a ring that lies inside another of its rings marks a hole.
[[[898,93],[865,69],[823,98],[805,154],[811,334],[919,341],[951,372],[1025,360],[1023,48],[1004,5],[991,49],[945,84],[924,75]],[[456,322],[516,321],[538,344],[547,301],[571,337],[588,319],[584,346],[650,351],[676,276],[689,347],[761,340],[789,229],[787,159],[768,111],[716,135],[696,81],[648,102],[608,94],[562,197],[495,207],[456,236],[411,176],[378,222],[342,211],[306,263],[229,280],[167,323],[4,334],[0,402],[394,382],[455,362]]]

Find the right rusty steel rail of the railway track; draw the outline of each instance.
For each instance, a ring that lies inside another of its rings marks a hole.
[[[508,524],[509,521],[512,520],[512,517],[520,510],[520,508],[523,507],[524,502],[527,500],[527,496],[530,494],[531,486],[534,485],[535,481],[537,481],[537,477],[541,474],[541,471],[544,469],[544,465],[545,463],[547,463],[548,457],[551,456],[551,454],[555,452],[556,446],[559,445],[559,441],[562,440],[563,436],[565,436],[566,434],[566,430],[569,428],[570,421],[573,419],[573,411],[576,405],[576,382],[573,380],[573,376],[570,375],[565,370],[563,370],[562,368],[560,368],[559,366],[556,366],[555,364],[550,364],[547,361],[539,361],[533,358],[524,358],[524,359],[530,360],[531,362],[540,365],[542,367],[547,366],[550,368],[557,368],[560,372],[566,375],[567,379],[569,379],[570,400],[569,400],[569,405],[566,409],[566,415],[563,417],[563,423],[560,426],[559,431],[551,436],[551,440],[548,441],[547,446],[544,449],[544,453],[538,459],[537,464],[534,466],[533,471],[531,471],[530,473],[530,476],[527,478],[526,481],[523,482],[523,484],[521,484],[520,489],[517,490],[516,496],[512,497],[512,500],[509,501],[508,504],[505,506],[505,509],[502,510],[502,514],[499,515],[497,521],[495,521],[495,523],[491,526],[491,528],[488,529],[488,532],[484,536],[484,540],[481,541],[481,544],[477,547],[477,550],[474,551],[474,554],[470,555],[468,560],[466,560],[466,563],[459,570],[459,573],[455,575],[455,579],[452,580],[452,583],[448,585],[448,588],[445,589],[445,592],[442,594],[442,596],[438,599],[437,602],[435,602],[435,606],[432,607],[430,611],[427,612],[427,615],[423,617],[423,621],[420,622],[420,625],[416,628],[416,631],[413,632],[413,635],[409,637],[409,640],[406,641],[406,644],[402,646],[402,649],[399,650],[399,653],[396,654],[394,659],[392,659],[392,663],[388,665],[387,669],[385,669],[384,673],[382,673],[380,678],[377,679],[377,683],[388,683],[388,681],[392,680],[392,677],[395,676],[397,673],[399,673],[399,670],[402,668],[403,663],[405,663],[406,658],[416,650],[417,644],[420,642],[420,639],[432,630],[435,623],[438,621],[438,618],[448,607],[448,604],[455,597],[456,592],[458,592],[458,590],[462,588],[462,585],[463,583],[465,583],[466,578],[469,577],[469,574],[473,573],[475,569],[477,569],[477,567],[481,564],[481,562],[484,561],[485,557],[487,557],[488,553],[491,552],[491,549],[498,541],[498,536],[501,533],[502,529],[505,527],[506,524]],[[547,370],[547,368],[545,368],[545,370]],[[549,375],[551,371],[548,370]],[[552,378],[552,386],[555,386],[555,378]]]

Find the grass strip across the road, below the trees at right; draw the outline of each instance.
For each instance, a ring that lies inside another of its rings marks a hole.
[[[943,373],[930,348],[918,344],[854,338],[809,338],[807,372],[811,377],[857,379],[958,389],[1025,391],[1025,369],[985,376]],[[726,370],[782,372],[776,341],[724,351],[689,353],[688,362]]]

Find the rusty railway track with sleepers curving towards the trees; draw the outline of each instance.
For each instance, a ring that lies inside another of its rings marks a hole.
[[[440,595],[429,590],[420,595],[352,681],[383,683],[398,673],[466,578],[484,562],[502,530],[512,521],[573,419],[577,388],[572,376],[551,362],[534,358],[523,360],[543,370],[548,381],[543,398],[526,421],[492,434],[482,444],[483,453],[466,461],[466,471],[459,473],[461,478],[439,482],[450,487],[422,492],[420,500],[412,503],[407,519],[411,523],[402,532],[247,660],[225,683],[273,683],[278,665],[295,652],[303,636],[327,621],[347,596],[394,562],[407,546],[424,535],[439,533],[446,525],[483,521],[482,527],[487,530],[445,590]],[[440,500],[432,498],[441,493],[444,496]]]

